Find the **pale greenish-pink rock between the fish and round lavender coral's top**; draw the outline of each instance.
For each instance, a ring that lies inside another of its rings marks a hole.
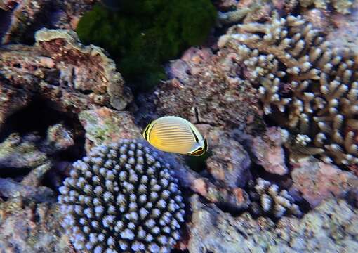
[[[129,112],[109,108],[85,110],[79,114],[79,120],[86,130],[86,150],[122,138],[141,138],[141,130]]]

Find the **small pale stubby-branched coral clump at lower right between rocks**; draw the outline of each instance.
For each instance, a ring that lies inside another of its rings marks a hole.
[[[253,214],[268,215],[274,218],[281,218],[284,215],[302,216],[300,208],[294,203],[295,200],[289,192],[280,190],[276,184],[258,178],[255,183],[250,181],[248,187]]]

